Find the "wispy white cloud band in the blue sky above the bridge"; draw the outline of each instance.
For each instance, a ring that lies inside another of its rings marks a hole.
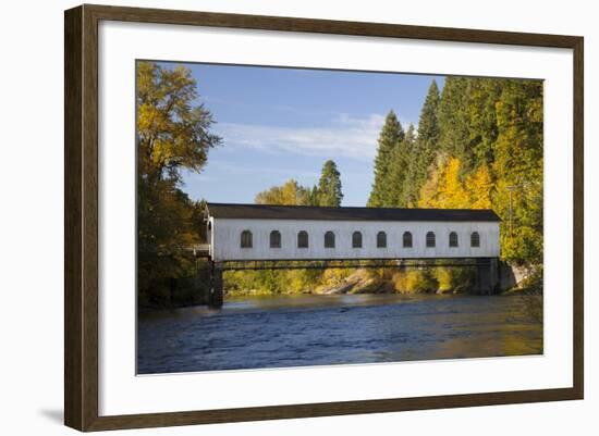
[[[280,127],[219,123],[216,130],[225,147],[246,147],[269,152],[307,155],[344,155],[370,161],[384,115],[352,117],[338,114],[327,127]]]

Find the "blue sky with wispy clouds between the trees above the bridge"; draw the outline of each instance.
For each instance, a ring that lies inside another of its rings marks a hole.
[[[386,114],[394,110],[404,128],[417,125],[431,80],[440,88],[444,82],[412,74],[184,65],[223,144],[210,150],[200,174],[184,174],[183,189],[213,202],[250,203],[257,192],[290,178],[311,186],[332,159],[343,205],[365,205]]]

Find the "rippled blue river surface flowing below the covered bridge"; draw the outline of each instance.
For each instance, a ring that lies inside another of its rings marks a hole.
[[[139,374],[542,353],[525,296],[225,299],[138,315]]]

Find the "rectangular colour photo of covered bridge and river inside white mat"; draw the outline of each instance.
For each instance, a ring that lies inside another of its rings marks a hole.
[[[136,63],[137,373],[543,352],[543,82]]]

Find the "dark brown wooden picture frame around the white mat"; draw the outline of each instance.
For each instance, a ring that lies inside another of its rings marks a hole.
[[[102,20],[572,49],[574,59],[572,65],[574,77],[573,386],[100,416],[98,413],[98,23]],[[65,12],[64,30],[64,422],[68,426],[80,431],[101,431],[583,398],[584,39],[582,37],[87,4]]]

